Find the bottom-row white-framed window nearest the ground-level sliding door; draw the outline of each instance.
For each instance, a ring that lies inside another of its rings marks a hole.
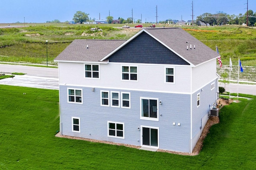
[[[124,123],[108,121],[108,136],[124,139]]]

